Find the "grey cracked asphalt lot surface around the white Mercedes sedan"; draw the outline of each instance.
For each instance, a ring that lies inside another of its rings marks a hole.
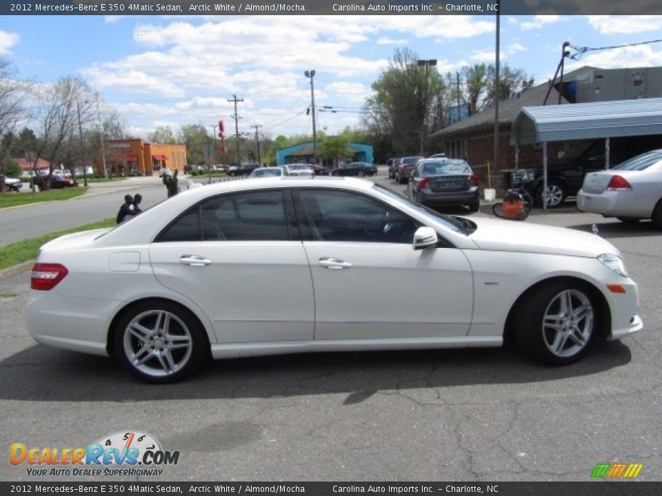
[[[5,453],[12,443],[78,448],[136,430],[181,452],[161,481],[588,481],[601,462],[641,463],[639,480],[662,479],[662,232],[571,205],[525,222],[596,224],[639,284],[644,330],[563,367],[510,347],[319,353],[217,361],[154,386],[108,358],[35,343],[20,273],[0,280]],[[6,458],[0,480],[62,479]]]

